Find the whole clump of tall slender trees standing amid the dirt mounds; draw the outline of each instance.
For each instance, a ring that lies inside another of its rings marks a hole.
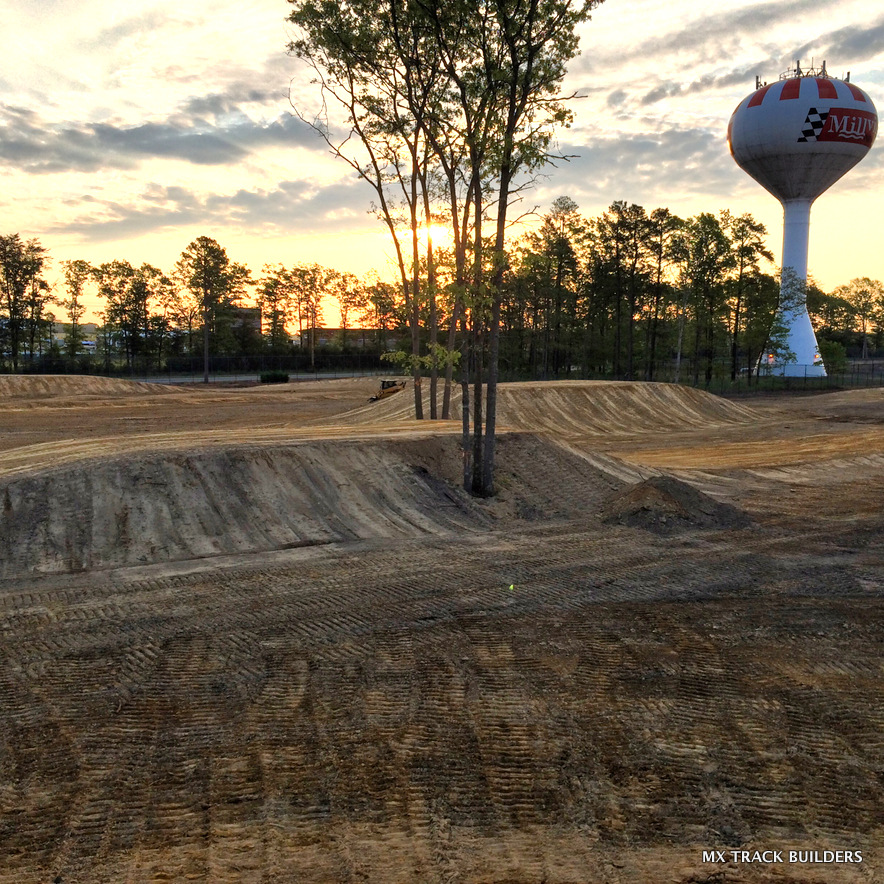
[[[412,315],[416,417],[422,416],[417,234],[419,223],[429,228],[432,216],[431,160],[448,182],[457,253],[455,284],[470,313],[469,323],[465,314],[462,320],[463,328],[470,329],[473,370],[472,444],[465,439],[465,458],[472,457],[468,484],[474,493],[490,494],[508,207],[518,189],[517,176],[548,162],[553,131],[569,119],[559,87],[567,62],[577,52],[576,27],[599,0],[290,2],[294,6],[290,20],[301,29],[292,49],[311,64],[325,95],[337,101],[346,115],[346,139],[333,140],[326,122],[319,131],[373,187],[393,237],[403,296]],[[362,159],[346,152],[351,138],[361,145]],[[399,186],[408,213],[410,274],[396,232],[390,183]],[[487,274],[482,233],[486,193],[496,197]],[[465,207],[472,209],[471,217]],[[467,236],[472,253],[468,285]],[[435,262],[429,243],[426,266],[432,316]],[[458,312],[455,302],[452,329]],[[463,407],[465,435],[469,435],[466,395]]]

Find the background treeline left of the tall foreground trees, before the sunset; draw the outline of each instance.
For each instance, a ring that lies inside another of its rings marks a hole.
[[[62,280],[50,285],[48,269],[39,240],[0,236],[0,365],[7,371],[162,371],[181,357],[291,356],[302,339],[312,362],[330,300],[341,317],[334,345],[342,350],[355,339],[348,338],[354,325],[372,326],[369,343],[383,351],[386,332],[404,324],[389,283],[318,264],[265,265],[255,278],[209,237],[190,243],[168,273],[81,259],[62,262]],[[103,307],[95,340],[83,322],[90,295]]]

